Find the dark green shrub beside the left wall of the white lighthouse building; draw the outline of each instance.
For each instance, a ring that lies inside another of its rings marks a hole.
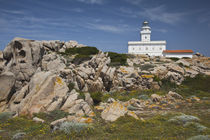
[[[127,65],[128,56],[126,54],[118,54],[115,52],[108,52],[108,56],[111,59],[110,66]]]

